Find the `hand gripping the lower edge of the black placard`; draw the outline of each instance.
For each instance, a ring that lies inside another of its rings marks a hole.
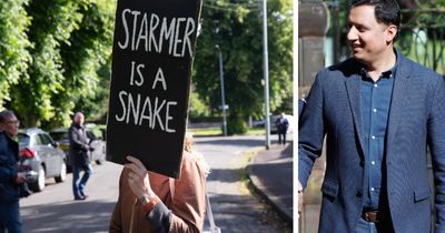
[[[127,156],[127,160],[131,162],[125,165],[126,169],[130,170],[128,173],[128,184],[130,185],[130,189],[135,195],[138,199],[144,195],[155,195],[154,191],[151,190],[148,171],[142,162],[134,156]]]

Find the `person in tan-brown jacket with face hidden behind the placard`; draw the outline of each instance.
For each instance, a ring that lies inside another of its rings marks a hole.
[[[202,231],[209,169],[191,146],[187,133],[178,180],[148,172],[140,160],[127,156],[110,233]]]

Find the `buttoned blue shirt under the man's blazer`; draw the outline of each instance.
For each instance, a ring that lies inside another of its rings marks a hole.
[[[384,156],[396,65],[374,82],[362,69],[362,118],[365,150],[365,207],[378,210],[385,180]]]

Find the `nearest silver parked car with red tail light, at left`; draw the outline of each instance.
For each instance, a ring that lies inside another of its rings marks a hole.
[[[47,132],[37,128],[20,130],[18,139],[20,171],[26,173],[32,191],[42,191],[46,179],[55,178],[57,183],[67,179],[66,155]]]

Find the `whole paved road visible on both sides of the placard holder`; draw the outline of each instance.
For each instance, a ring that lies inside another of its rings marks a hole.
[[[263,148],[264,136],[198,138],[196,141],[196,149],[212,170],[208,178],[209,196],[215,221],[224,233],[290,232],[239,182],[247,164],[244,152]],[[86,190],[90,195],[87,201],[72,200],[71,174],[59,184],[48,180],[43,192],[20,201],[26,232],[108,232],[121,169],[109,162],[93,166],[93,176]]]

